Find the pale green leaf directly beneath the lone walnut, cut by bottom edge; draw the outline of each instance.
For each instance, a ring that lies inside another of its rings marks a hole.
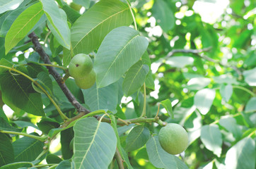
[[[165,168],[165,169],[188,169],[187,165],[180,158],[168,154],[166,151],[163,150],[161,147],[158,137],[151,137],[149,141],[146,143],[146,151],[149,155],[149,161],[156,167],[156,168]]]

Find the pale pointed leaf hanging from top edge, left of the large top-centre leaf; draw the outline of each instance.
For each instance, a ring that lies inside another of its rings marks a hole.
[[[66,13],[59,9],[55,1],[40,0],[45,11],[48,22],[47,25],[59,44],[66,49],[70,49],[71,39],[69,25],[67,24]]]

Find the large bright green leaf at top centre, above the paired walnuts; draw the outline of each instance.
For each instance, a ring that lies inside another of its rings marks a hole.
[[[99,1],[81,15],[71,27],[74,54],[89,54],[100,46],[112,29],[129,26],[131,23],[132,15],[127,4],[118,0]],[[69,64],[71,57],[71,52],[64,50],[64,65]]]

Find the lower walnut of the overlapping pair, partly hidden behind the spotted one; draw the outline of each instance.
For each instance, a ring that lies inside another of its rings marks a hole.
[[[76,85],[78,85],[78,87],[80,87],[81,89],[88,89],[90,87],[93,86],[93,84],[95,83],[95,77],[96,77],[96,73],[94,70],[91,70],[91,72],[84,76],[81,79],[75,79]]]

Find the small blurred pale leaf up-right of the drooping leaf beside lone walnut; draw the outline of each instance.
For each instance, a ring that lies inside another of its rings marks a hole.
[[[235,139],[242,137],[243,132],[236,123],[235,118],[222,118],[219,120],[219,124],[225,127],[228,132],[231,132]]]

